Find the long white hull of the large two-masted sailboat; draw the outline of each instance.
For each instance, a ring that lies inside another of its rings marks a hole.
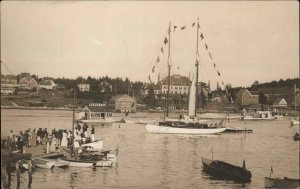
[[[192,135],[207,135],[216,134],[225,131],[226,128],[211,128],[211,129],[193,129],[193,128],[177,128],[158,125],[146,125],[146,130],[149,133],[161,134],[192,134]]]

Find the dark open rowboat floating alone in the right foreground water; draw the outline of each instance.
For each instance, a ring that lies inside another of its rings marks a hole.
[[[202,158],[203,171],[216,179],[225,179],[237,182],[251,182],[252,174],[246,169],[245,161],[243,167],[231,165],[229,163]]]

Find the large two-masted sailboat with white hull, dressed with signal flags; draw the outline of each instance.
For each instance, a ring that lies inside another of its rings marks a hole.
[[[166,101],[166,116],[168,116],[168,99],[169,99],[169,89],[170,89],[170,33],[171,24],[169,25],[169,54],[168,54],[168,91],[167,91],[167,101]],[[222,122],[219,123],[209,123],[207,120],[200,120],[196,116],[196,94],[197,94],[197,83],[198,83],[198,31],[199,30],[199,20],[197,27],[197,57],[196,57],[196,79],[193,78],[192,85],[190,88],[189,95],[189,113],[183,116],[181,119],[171,119],[166,117],[163,122],[158,124],[146,124],[146,130],[150,133],[165,133],[165,134],[194,134],[194,135],[206,135],[206,134],[216,134],[226,130],[222,127]]]

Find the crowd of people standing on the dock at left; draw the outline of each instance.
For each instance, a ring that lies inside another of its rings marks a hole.
[[[92,126],[90,129],[90,135],[88,135],[88,129],[89,127],[86,123],[82,125],[77,123],[74,129],[74,141],[79,143],[93,142],[95,140],[95,127]],[[38,130],[29,128],[25,131],[20,131],[18,134],[11,130],[5,146],[11,151],[25,153],[26,148],[45,145],[49,152],[55,152],[59,147],[71,148],[72,135],[71,130],[63,129],[53,129],[49,132],[47,128],[39,128]]]

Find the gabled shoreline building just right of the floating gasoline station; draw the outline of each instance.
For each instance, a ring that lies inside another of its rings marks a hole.
[[[109,100],[109,106],[116,112],[136,112],[136,99],[127,94],[117,95]]]

